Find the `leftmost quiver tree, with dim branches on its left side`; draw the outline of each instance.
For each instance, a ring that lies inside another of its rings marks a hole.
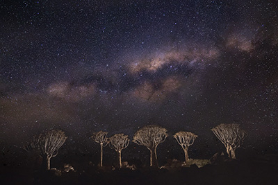
[[[47,161],[47,170],[50,169],[50,159],[58,155],[58,150],[65,140],[65,132],[61,130],[49,130],[44,134],[33,136],[31,143],[24,146],[24,150],[38,150],[44,161]]]

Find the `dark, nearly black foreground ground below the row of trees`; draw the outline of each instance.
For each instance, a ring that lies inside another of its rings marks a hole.
[[[1,184],[277,184],[277,155],[245,161],[220,161],[202,168],[197,166],[138,168],[130,170],[97,168],[90,164],[74,171],[56,173],[25,168],[2,168]]]

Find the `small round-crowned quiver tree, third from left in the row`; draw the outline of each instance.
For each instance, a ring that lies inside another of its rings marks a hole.
[[[119,159],[119,167],[122,168],[122,149],[129,146],[129,136],[124,134],[115,134],[109,139],[109,146],[116,150]]]

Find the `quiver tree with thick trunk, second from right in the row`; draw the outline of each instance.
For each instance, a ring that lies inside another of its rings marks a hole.
[[[197,138],[197,135],[191,133],[191,132],[177,132],[176,134],[174,134],[174,139],[177,140],[177,142],[179,143],[179,145],[181,146],[181,148],[184,151],[184,155],[186,157],[186,163],[189,160],[188,157],[188,148],[189,146],[193,145],[195,139]]]

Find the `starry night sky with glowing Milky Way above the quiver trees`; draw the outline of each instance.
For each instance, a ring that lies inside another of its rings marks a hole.
[[[238,123],[277,147],[275,1],[0,3],[0,139],[47,129],[170,134]],[[202,140],[203,139],[203,140]]]

